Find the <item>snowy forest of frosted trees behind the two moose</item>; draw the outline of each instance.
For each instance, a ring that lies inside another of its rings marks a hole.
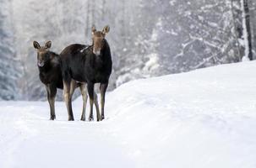
[[[0,99],[46,100],[33,41],[52,40],[56,53],[91,45],[92,25],[110,26],[110,91],[139,78],[253,60],[255,8],[253,0],[0,0]]]

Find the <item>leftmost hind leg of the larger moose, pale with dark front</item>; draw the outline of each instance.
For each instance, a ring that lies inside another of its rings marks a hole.
[[[64,95],[64,100],[66,102],[66,106],[68,109],[68,121],[74,121],[74,115],[72,111],[72,103],[71,103],[71,96],[70,96],[70,82],[71,81],[63,81],[63,95]]]

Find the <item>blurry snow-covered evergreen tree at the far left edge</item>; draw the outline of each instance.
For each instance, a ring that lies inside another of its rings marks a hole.
[[[21,66],[14,50],[11,1],[0,0],[0,100],[19,98],[18,78]]]

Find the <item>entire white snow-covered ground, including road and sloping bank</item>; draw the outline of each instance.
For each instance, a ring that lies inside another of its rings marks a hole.
[[[1,168],[256,167],[256,62],[131,81],[106,120],[68,122],[63,102],[0,102]],[[88,117],[88,115],[86,116]]]

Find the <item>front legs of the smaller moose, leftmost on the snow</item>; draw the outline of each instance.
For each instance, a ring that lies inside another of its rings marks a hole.
[[[54,120],[56,118],[55,115],[55,97],[57,93],[57,88],[52,85],[46,85],[46,91],[47,91],[47,99],[50,105],[50,111],[51,111],[51,120]]]

